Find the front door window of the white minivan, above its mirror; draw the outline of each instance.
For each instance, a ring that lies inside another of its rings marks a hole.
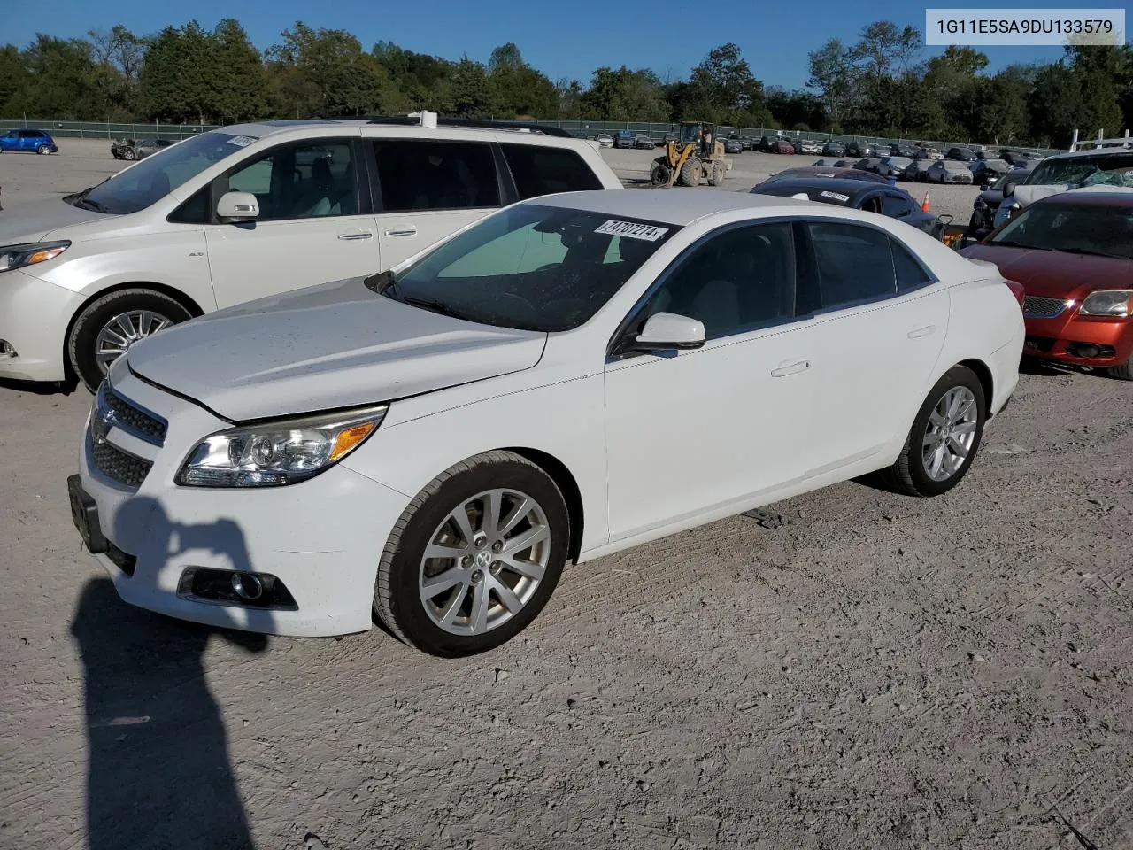
[[[256,196],[259,221],[353,215],[356,189],[349,141],[276,147],[228,176],[229,192]]]

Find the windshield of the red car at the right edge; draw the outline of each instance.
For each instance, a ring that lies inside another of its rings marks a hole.
[[[1033,204],[1008,221],[990,245],[1133,258],[1133,209]]]

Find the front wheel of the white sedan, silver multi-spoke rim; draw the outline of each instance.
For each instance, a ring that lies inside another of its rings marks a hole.
[[[374,611],[431,655],[494,649],[547,604],[569,539],[566,503],[546,473],[512,452],[477,454],[429,482],[398,520]]]

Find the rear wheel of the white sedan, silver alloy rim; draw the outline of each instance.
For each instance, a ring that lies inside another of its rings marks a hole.
[[[953,366],[921,405],[897,461],[883,473],[886,483],[914,496],[947,493],[976,459],[986,410],[979,377]]]

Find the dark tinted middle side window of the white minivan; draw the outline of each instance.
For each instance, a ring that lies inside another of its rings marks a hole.
[[[482,142],[374,143],[382,212],[500,206],[492,147]]]

